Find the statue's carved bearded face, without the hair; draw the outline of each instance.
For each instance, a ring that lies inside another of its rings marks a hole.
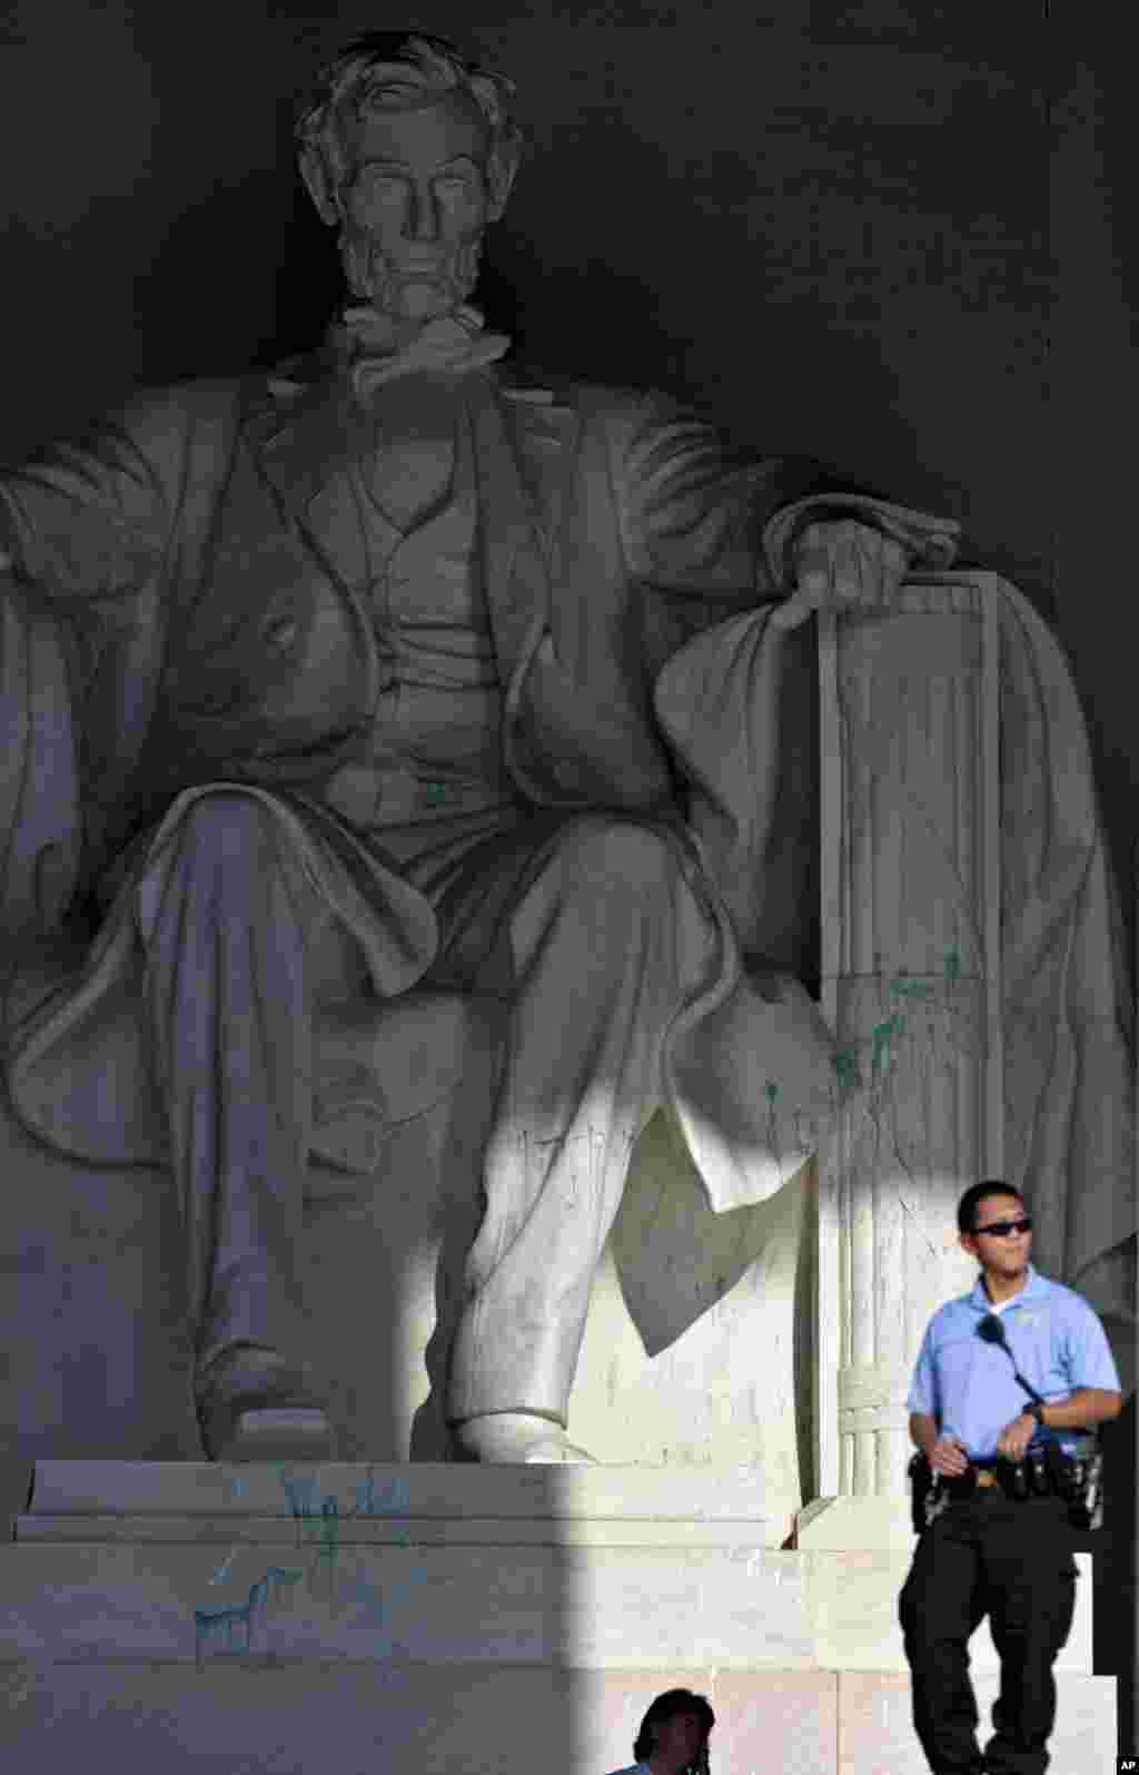
[[[477,106],[447,92],[413,110],[369,112],[348,146],[339,245],[351,293],[394,321],[452,312],[475,286],[491,213]]]

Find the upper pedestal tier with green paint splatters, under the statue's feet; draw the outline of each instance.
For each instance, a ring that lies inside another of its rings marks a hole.
[[[908,1551],[781,1551],[745,1503],[637,1468],[41,1463],[0,1553],[0,1656],[905,1672]],[[995,1663],[986,1626],[970,1654]],[[1091,1672],[1088,1582],[1057,1668]]]

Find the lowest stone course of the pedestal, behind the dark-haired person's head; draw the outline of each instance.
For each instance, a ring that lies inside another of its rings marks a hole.
[[[0,1661],[0,1768],[35,1775],[601,1775],[624,1768],[653,1695],[708,1697],[715,1775],[928,1775],[910,1684],[880,1672],[701,1665],[543,1670],[348,1660]],[[997,1693],[974,1676],[979,1741]],[[1109,1677],[1057,1677],[1057,1775],[1116,1763]]]

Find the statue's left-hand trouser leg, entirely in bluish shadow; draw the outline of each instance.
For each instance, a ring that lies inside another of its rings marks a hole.
[[[264,808],[215,792],[149,859],[137,918],[199,1376],[247,1342],[300,1363],[318,896]]]

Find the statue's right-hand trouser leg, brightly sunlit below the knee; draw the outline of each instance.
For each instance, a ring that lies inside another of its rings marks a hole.
[[[600,816],[543,848],[509,939],[509,1049],[447,1416],[538,1411],[564,1425],[593,1274],[662,1100],[662,1038],[717,939],[672,843]]]

